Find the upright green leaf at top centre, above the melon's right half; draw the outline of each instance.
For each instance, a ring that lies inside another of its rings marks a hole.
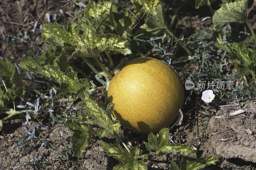
[[[164,4],[158,4],[155,7],[155,12],[147,15],[147,21],[141,26],[141,29],[155,36],[166,29]]]

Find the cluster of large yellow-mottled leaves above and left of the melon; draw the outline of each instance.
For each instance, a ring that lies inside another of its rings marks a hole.
[[[103,6],[95,6],[94,2],[84,8],[84,17],[78,17],[78,23],[68,23],[68,29],[57,23],[46,24],[42,29],[43,41],[47,44],[65,48],[72,52],[73,56],[96,57],[103,51],[126,48],[127,34],[131,32],[131,25],[123,24],[123,29],[119,30],[120,37],[115,34],[98,34],[98,28],[108,17],[112,3],[104,2]],[[131,20],[128,23],[133,22]],[[127,19],[126,19],[127,20]],[[120,21],[122,25],[122,21]],[[130,30],[130,31],[129,31]],[[126,32],[126,33],[125,33]],[[56,54],[55,54],[56,56]]]

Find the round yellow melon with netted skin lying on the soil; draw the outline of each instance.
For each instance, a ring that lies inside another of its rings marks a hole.
[[[170,125],[184,103],[184,89],[177,73],[150,57],[131,60],[108,86],[113,115],[135,133],[158,132]]]

